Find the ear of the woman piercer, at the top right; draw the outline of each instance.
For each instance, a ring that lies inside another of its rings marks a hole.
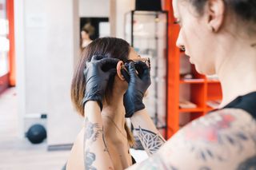
[[[224,22],[225,3],[223,0],[208,0],[206,3],[208,26],[213,32],[218,32]]]

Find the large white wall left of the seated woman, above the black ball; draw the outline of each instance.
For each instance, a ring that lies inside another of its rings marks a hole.
[[[78,57],[78,1],[14,1],[18,110],[47,113],[47,142],[70,144],[82,119],[70,101]]]

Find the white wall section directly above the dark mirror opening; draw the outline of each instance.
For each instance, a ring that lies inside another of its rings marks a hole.
[[[110,0],[79,0],[79,17],[109,17]]]

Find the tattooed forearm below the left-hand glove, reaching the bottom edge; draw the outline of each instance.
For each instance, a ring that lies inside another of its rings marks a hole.
[[[86,170],[114,169],[106,148],[101,110],[97,101],[87,101],[85,110],[85,168]]]

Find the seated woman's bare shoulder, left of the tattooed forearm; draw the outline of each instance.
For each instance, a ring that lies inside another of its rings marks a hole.
[[[83,159],[83,138],[84,128],[78,133],[76,140],[74,140],[73,147],[70,151],[70,157],[66,164],[66,169],[78,169],[84,170]]]

